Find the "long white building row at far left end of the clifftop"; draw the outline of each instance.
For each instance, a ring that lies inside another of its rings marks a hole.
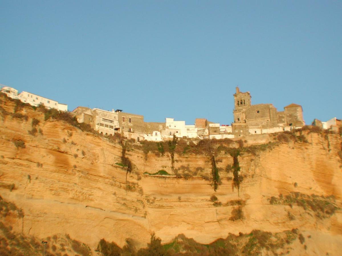
[[[39,95],[32,94],[27,91],[22,91],[20,94],[18,94],[18,90],[9,86],[3,86],[1,88],[1,92],[5,93],[8,97],[12,99],[19,99],[22,102],[29,103],[32,106],[38,106],[39,104],[44,104],[45,107],[50,108],[50,109],[68,111],[68,105],[66,104],[58,103],[58,101],[41,97]]]

